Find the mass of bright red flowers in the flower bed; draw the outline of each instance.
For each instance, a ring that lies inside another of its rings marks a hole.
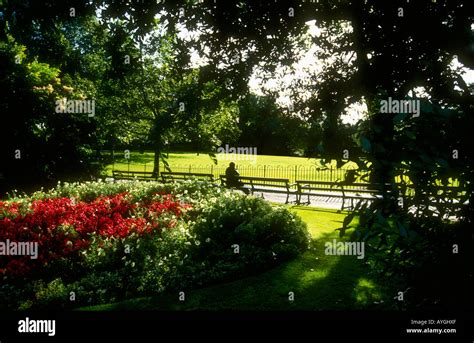
[[[38,257],[0,256],[0,275],[24,275],[32,268],[78,256],[93,233],[124,238],[132,232],[159,232],[174,226],[163,214],[179,217],[187,207],[171,195],[160,201],[130,202],[128,193],[103,196],[90,203],[71,198],[34,200],[29,206],[0,201],[0,242],[37,242]]]

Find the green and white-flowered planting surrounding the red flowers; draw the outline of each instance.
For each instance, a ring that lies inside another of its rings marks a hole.
[[[92,234],[87,248],[53,261],[39,279],[4,277],[3,308],[72,308],[242,278],[296,256],[310,242],[306,225],[288,210],[201,181],[64,183],[15,200],[92,201],[123,192],[142,203],[171,193],[191,207],[179,217],[164,213],[162,230],[122,238]]]

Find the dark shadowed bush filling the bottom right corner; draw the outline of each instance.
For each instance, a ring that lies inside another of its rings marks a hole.
[[[382,213],[375,206],[363,207],[354,238],[365,240],[366,256],[374,270],[398,280],[400,289],[405,291],[405,301],[400,306],[472,306],[472,225],[436,215]]]

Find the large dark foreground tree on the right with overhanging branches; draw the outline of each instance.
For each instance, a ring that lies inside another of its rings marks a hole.
[[[109,7],[122,15],[132,12],[113,4]],[[181,16],[180,7],[184,10]],[[464,82],[459,68],[452,67],[453,60],[458,60],[474,68],[473,17],[467,7],[466,2],[446,0],[403,5],[375,0],[279,1],[278,5],[189,1],[146,6],[136,11],[140,14],[135,23],[146,29],[153,17],[150,13],[161,13],[169,29],[175,30],[179,23],[199,32],[195,48],[212,66],[209,75],[227,83],[230,95],[238,97],[245,94],[256,66],[270,73],[282,65],[291,67],[305,46],[306,23],[315,20],[321,31],[312,38],[321,48],[315,58],[326,63],[310,82],[297,82],[296,92],[307,90],[310,96],[295,94],[295,108],[316,123],[322,120],[326,127],[323,134],[328,135],[340,124],[347,106],[361,101],[367,104],[368,118],[359,125],[360,150],[351,152],[351,158],[365,154],[367,160],[361,164],[371,179],[391,186],[381,201],[358,207],[364,229],[358,232],[359,238],[384,252],[384,266],[392,271],[405,277],[410,271],[426,276],[428,287],[419,288],[426,290],[440,279],[439,273],[421,273],[424,268],[431,270],[433,261],[443,266],[441,279],[452,280],[447,271],[456,263],[452,254],[446,254],[446,242],[463,242],[463,261],[472,260],[467,251],[474,250],[470,231],[474,156],[472,149],[466,149],[472,145],[474,129],[472,86]],[[412,99],[417,87],[424,88],[418,118],[381,111],[381,100]],[[331,151],[327,144],[324,147],[329,154],[339,153],[337,150]],[[454,158],[454,150],[464,153]],[[423,206],[419,201],[433,196],[437,183],[458,179],[465,194],[461,200],[468,200],[457,213],[459,222],[446,224],[436,219],[426,203],[427,209],[415,214],[410,206],[400,208],[394,196],[395,181],[400,177],[409,178],[407,182],[418,194],[416,202],[408,204],[415,206]],[[472,266],[465,263],[461,267],[457,283],[472,284]],[[458,291],[452,286],[448,289],[433,294],[430,301]]]

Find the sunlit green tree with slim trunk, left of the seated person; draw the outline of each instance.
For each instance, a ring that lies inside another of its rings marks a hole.
[[[163,33],[159,23],[146,37],[126,30],[121,24],[111,30],[111,54],[119,56],[119,67],[112,63],[111,78],[103,87],[103,98],[109,99],[104,120],[109,136],[151,146],[155,174],[160,160],[168,168],[164,150],[169,144],[192,143],[212,155],[220,138],[234,139],[235,104],[203,77],[205,71],[180,58],[179,39]]]

